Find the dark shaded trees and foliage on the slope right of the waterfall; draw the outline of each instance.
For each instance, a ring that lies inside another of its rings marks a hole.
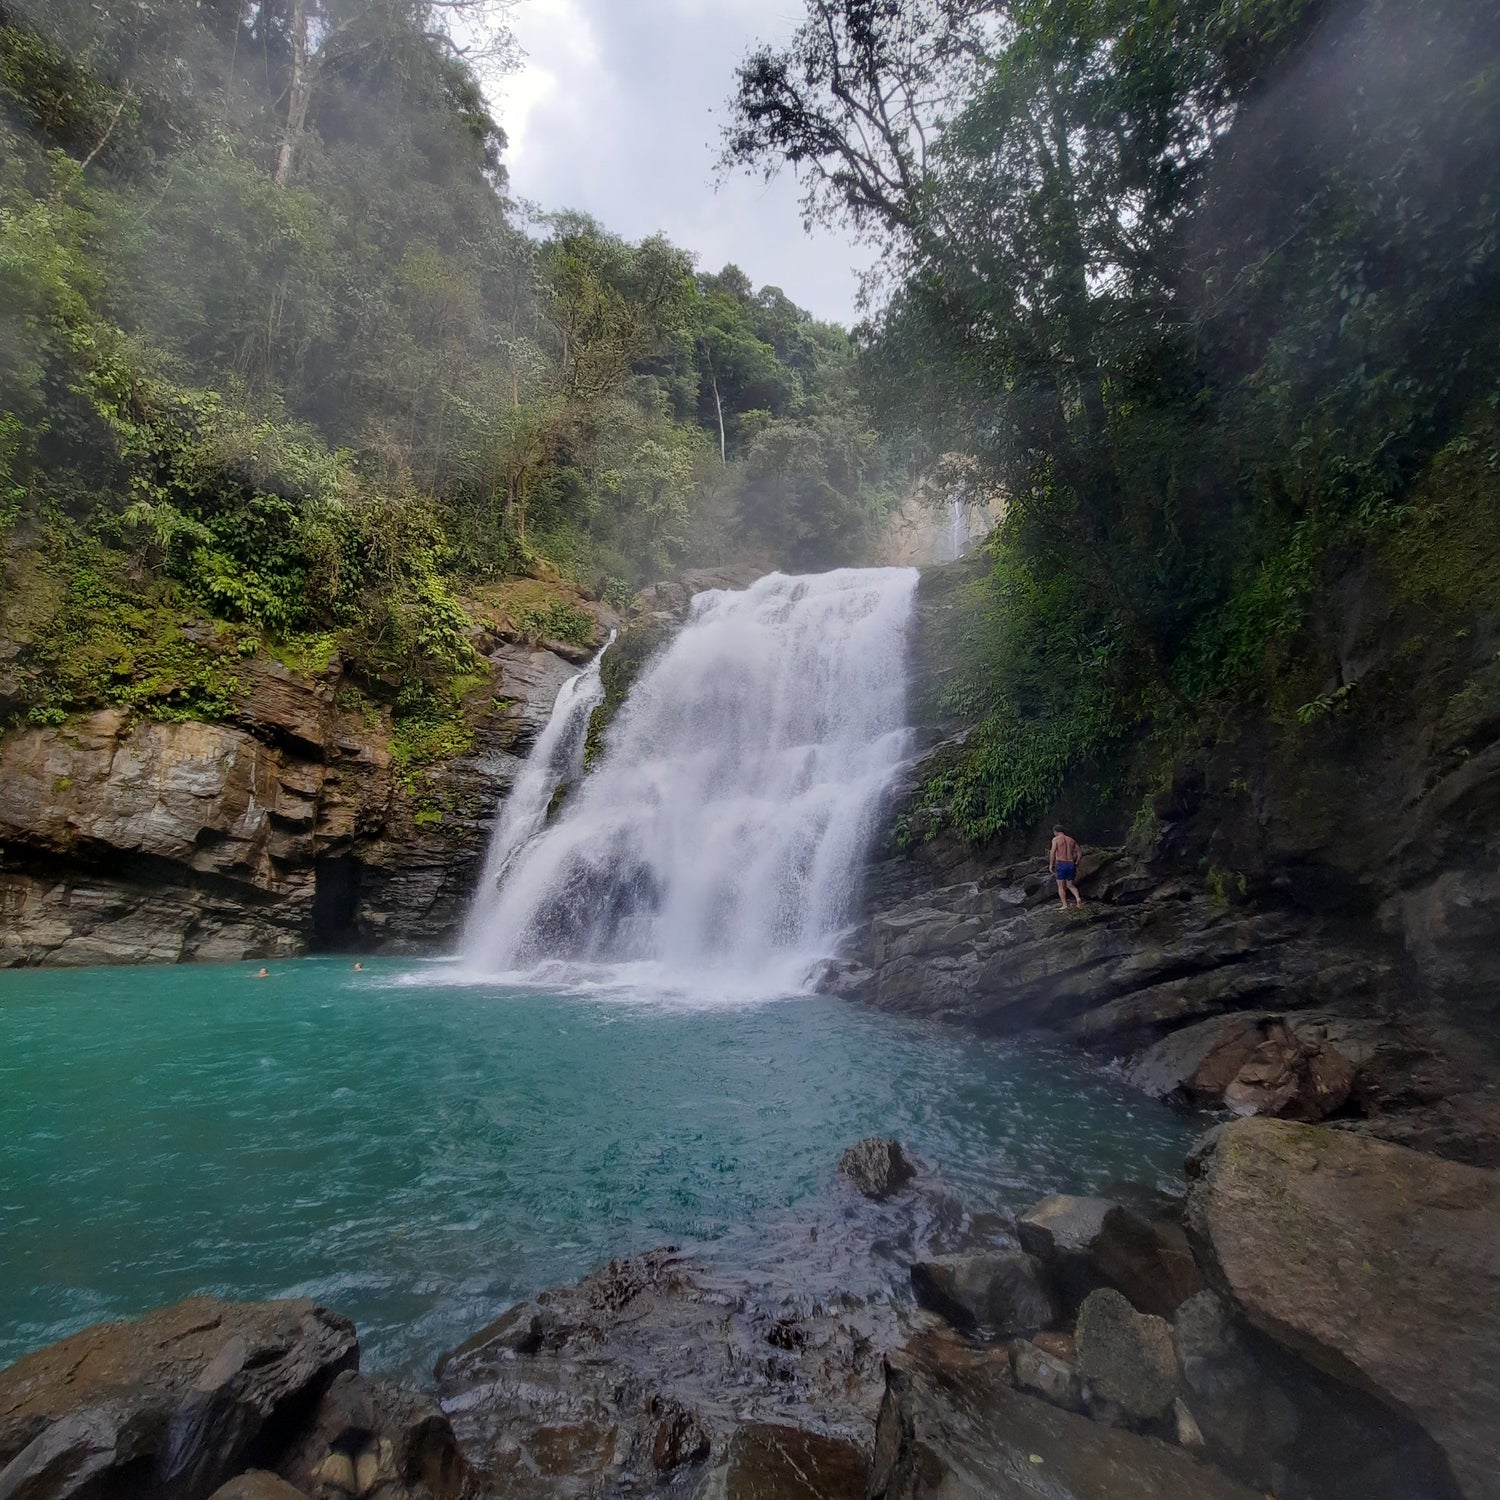
[[[728,164],[795,166],[812,213],[880,244],[882,424],[1006,504],[958,610],[945,706],[974,730],[928,830],[1024,832],[1086,786],[1090,816],[1144,794],[1149,820],[1174,750],[1245,714],[1312,753],[1400,714],[1340,645],[1360,610],[1404,602],[1412,660],[1482,646],[1500,6],[806,12],[742,66]],[[1454,712],[1500,722],[1479,670]]]

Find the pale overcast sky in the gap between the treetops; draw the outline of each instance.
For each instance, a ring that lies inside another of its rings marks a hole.
[[[870,252],[806,234],[790,172],[714,189],[735,66],[801,14],[800,0],[520,0],[525,63],[494,88],[513,190],[630,240],[662,230],[702,270],[734,261],[756,286],[852,322]]]

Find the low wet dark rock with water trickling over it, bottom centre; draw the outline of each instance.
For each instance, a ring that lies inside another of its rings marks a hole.
[[[858,1236],[770,1254],[660,1248],[512,1308],[438,1362],[464,1452],[506,1500],[860,1500],[902,1334],[890,1282]]]

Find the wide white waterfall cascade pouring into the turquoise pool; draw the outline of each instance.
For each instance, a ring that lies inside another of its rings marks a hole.
[[[507,807],[468,968],[798,987],[854,914],[880,804],[910,752],[915,590],[915,568],[842,568],[699,594],[561,816],[543,826],[550,790],[540,804],[530,792],[530,810]],[[596,692],[576,688],[568,712]],[[554,753],[543,741],[561,711],[560,699],[532,760]]]

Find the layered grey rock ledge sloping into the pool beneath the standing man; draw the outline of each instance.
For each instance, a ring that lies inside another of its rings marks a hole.
[[[874,914],[818,987],[1054,1038],[1156,1098],[1500,1166],[1490,1024],[1449,1017],[1368,928],[1220,900],[1124,849],[1086,856],[1080,880],[1086,904],[1064,912],[1042,860],[876,867]]]

